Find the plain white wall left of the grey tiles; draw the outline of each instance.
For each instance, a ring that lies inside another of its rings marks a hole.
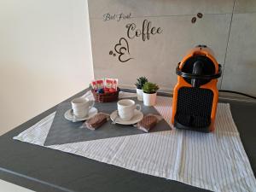
[[[0,1],[0,135],[92,78],[87,0]]]

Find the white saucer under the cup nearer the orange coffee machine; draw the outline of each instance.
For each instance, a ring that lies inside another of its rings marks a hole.
[[[117,115],[117,110],[115,110],[113,113],[110,114],[110,119],[113,121],[113,119],[116,118],[116,115]],[[120,117],[118,117],[117,119],[115,119],[115,123],[121,124],[121,125],[133,125],[142,119],[143,119],[143,113],[135,109],[134,116],[130,120],[123,120]]]

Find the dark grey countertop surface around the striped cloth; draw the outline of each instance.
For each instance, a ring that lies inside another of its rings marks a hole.
[[[82,96],[85,90],[69,98]],[[67,102],[65,101],[65,102]],[[219,101],[224,102],[224,101]],[[256,173],[256,103],[230,102],[241,142]],[[207,191],[12,139],[55,111],[50,108],[0,137],[0,179],[38,192]]]

